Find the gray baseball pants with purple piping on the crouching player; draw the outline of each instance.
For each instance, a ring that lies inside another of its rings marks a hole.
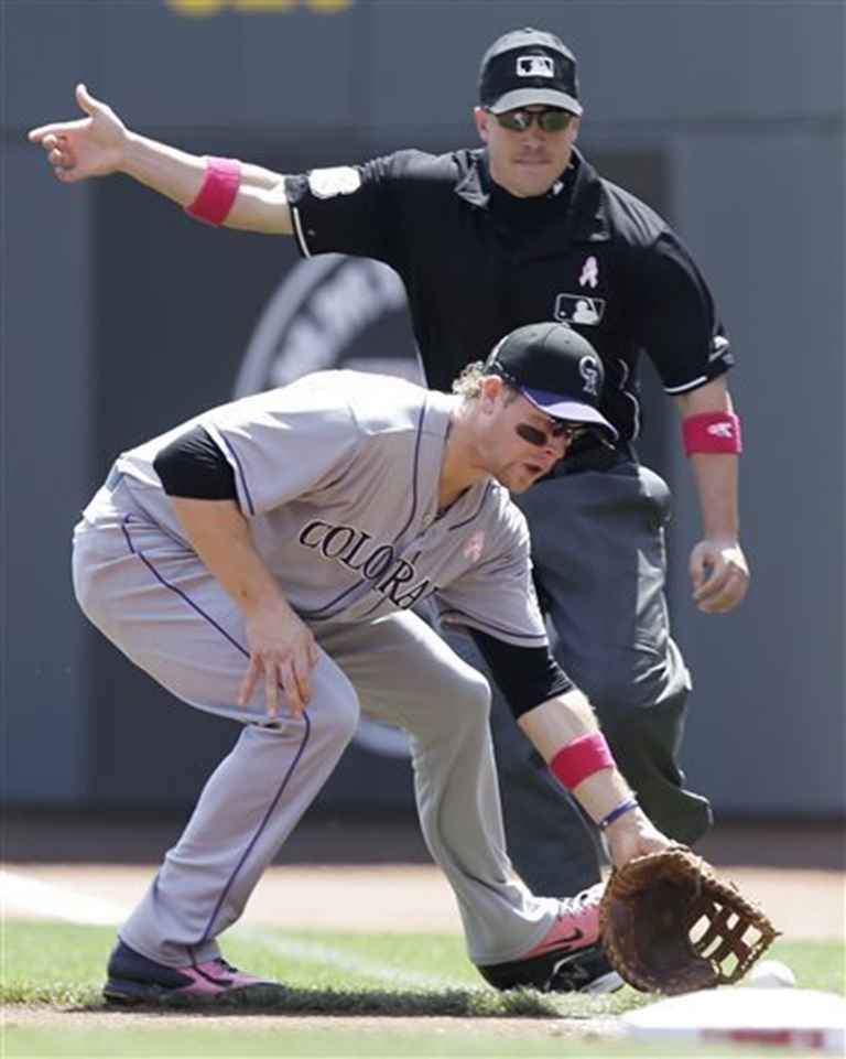
[[[173,966],[218,955],[218,934],[330,776],[359,711],[410,735],[421,826],[455,891],[470,960],[511,961],[543,939],[558,906],[534,897],[506,854],[488,684],[421,618],[315,625],[313,702],[302,718],[269,722],[261,693],[236,705],[248,658],[240,612],[124,483],[86,509],[73,571],[83,610],[134,664],[243,725],[121,928],[129,945]]]

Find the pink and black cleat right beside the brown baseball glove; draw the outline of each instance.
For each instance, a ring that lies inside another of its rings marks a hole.
[[[518,960],[479,966],[481,976],[498,990],[610,993],[620,988],[622,980],[597,944],[604,890],[605,885],[597,883],[575,897],[562,898],[545,938]]]

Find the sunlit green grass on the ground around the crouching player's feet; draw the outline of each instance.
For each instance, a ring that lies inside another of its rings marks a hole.
[[[139,1025],[101,1002],[104,963],[113,942],[109,928],[10,921],[3,925],[4,1006],[2,1059],[32,1057],[416,1057],[465,1056],[646,1057],[654,1045],[573,1039],[556,1027],[578,1019],[620,1014],[649,1003],[626,988],[609,996],[550,996],[531,991],[500,994],[487,988],[467,961],[463,939],[453,934],[338,934],[263,930],[232,933],[226,955],[237,965],[284,981],[288,994],[272,1009],[231,1011],[220,1020],[208,1012],[149,1013]],[[846,994],[845,947],[837,943],[779,941],[770,953],[789,963],[805,988]],[[15,1005],[63,1012],[61,1033],[15,1019]],[[300,1016],[332,1015],[337,1028],[321,1022],[303,1026]],[[373,1016],[382,1022],[375,1023]],[[391,1029],[391,1019],[412,1016],[420,1026]],[[432,1018],[463,1019],[458,1030]],[[525,1033],[497,1033],[490,1019],[525,1019]],[[294,1022],[295,1019],[295,1022]],[[356,1025],[358,1019],[358,1025]],[[480,1019],[478,1031],[464,1020]],[[562,1022],[565,1020],[565,1022]],[[543,1033],[538,1031],[541,1027]],[[447,1028],[445,1028],[447,1027]],[[492,1027],[492,1028],[491,1028]],[[693,1055],[693,1052],[687,1052]],[[696,1055],[748,1055],[742,1050],[697,1049]]]

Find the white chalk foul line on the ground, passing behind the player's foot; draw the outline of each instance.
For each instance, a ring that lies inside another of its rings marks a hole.
[[[32,915],[86,927],[119,927],[130,911],[122,905],[105,898],[93,897],[65,886],[56,886],[53,883],[44,883],[31,876],[17,875],[0,868],[0,910],[2,910],[3,920],[7,918],[9,906]],[[291,957],[304,963],[316,963],[339,971],[364,974],[378,982],[391,982],[395,985],[417,988],[467,988],[466,983],[454,979],[414,974],[377,960],[341,952],[332,945],[269,934],[267,929],[236,926],[230,933],[242,941],[261,945],[280,955]]]

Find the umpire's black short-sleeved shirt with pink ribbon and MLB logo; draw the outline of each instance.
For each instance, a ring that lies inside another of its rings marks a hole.
[[[731,365],[712,294],[677,236],[577,153],[540,198],[494,184],[484,150],[399,151],[285,186],[305,257],[351,253],[400,274],[436,389],[514,327],[558,320],[601,356],[601,411],[626,440],[641,426],[640,349],[668,393]]]

